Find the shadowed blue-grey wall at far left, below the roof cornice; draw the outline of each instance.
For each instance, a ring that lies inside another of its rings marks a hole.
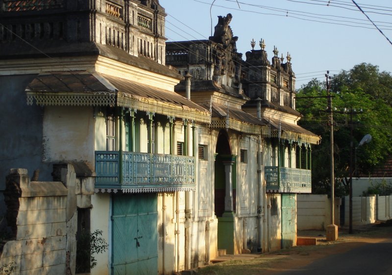
[[[1,74],[1,73],[0,73]],[[51,179],[51,167],[42,163],[43,108],[27,106],[25,88],[35,74],[0,75],[0,190],[5,188],[5,176],[14,167],[24,167],[31,178],[40,170],[39,180]],[[0,208],[2,200],[0,202]]]

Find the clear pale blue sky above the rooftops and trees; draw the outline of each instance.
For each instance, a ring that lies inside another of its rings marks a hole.
[[[230,26],[238,36],[238,51],[250,41],[265,40],[268,58],[273,47],[279,57],[292,57],[296,88],[312,78],[325,80],[340,70],[366,62],[392,72],[392,0],[160,0],[165,8],[168,41],[208,39],[218,16],[233,15]],[[329,2],[329,5],[327,5]],[[286,62],[286,59],[285,61]]]

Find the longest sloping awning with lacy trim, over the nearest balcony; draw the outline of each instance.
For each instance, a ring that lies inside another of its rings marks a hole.
[[[25,91],[29,105],[120,106],[211,122],[207,110],[175,92],[100,73],[42,73],[29,83]]]

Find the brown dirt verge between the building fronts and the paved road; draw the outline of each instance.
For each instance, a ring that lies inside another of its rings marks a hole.
[[[209,265],[196,270],[198,275],[273,275],[308,265],[331,254],[339,254],[366,243],[376,243],[392,238],[392,227],[372,224],[354,227],[348,234],[346,227],[339,228],[339,239],[325,240],[325,231],[299,231],[298,237],[316,237],[317,246],[297,246],[263,254],[242,254],[238,259]]]

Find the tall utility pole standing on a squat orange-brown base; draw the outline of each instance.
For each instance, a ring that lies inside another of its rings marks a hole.
[[[331,86],[331,76],[329,76],[329,70],[325,74],[326,86],[327,86],[327,96],[328,96],[328,112],[329,112],[329,123],[330,123],[330,150],[331,150],[331,224],[327,226],[327,241],[336,241],[338,239],[338,226],[335,225],[335,175],[334,175],[334,117],[332,111],[332,97],[330,92]]]

